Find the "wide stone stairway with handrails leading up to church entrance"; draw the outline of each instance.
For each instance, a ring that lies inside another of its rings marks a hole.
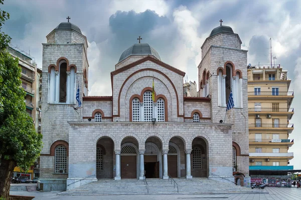
[[[224,194],[224,193],[263,193],[262,189],[251,189],[208,178],[174,178],[179,185],[179,194]],[[177,184],[171,179],[147,178],[148,194],[177,194]],[[268,192],[266,192],[268,193]],[[99,179],[80,187],[63,191],[58,195],[112,195],[147,194],[143,180],[138,179]]]

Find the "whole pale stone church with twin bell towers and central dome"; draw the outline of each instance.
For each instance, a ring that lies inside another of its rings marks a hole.
[[[144,176],[243,183],[249,173],[247,50],[231,27],[214,28],[201,46],[198,96],[184,95],[185,72],[140,40],[116,60],[112,95],[89,96],[86,36],[62,22],[46,38],[41,189]],[[226,111],[230,95],[234,107]]]

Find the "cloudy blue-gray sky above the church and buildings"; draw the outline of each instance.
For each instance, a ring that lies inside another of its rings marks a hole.
[[[249,50],[248,63],[269,62],[272,56],[288,70],[294,90],[295,144],[290,161],[301,169],[301,1],[300,0],[6,0],[2,8],[11,14],[3,31],[12,45],[29,51],[42,63],[46,35],[71,17],[89,42],[89,94],[111,95],[110,71],[122,51],[140,35],[152,45],[162,60],[197,80],[201,45],[223,19]]]

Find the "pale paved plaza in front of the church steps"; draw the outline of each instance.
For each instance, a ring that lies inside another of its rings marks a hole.
[[[105,200],[121,200],[121,199],[150,199],[150,200],[173,200],[173,199],[229,199],[229,200],[299,200],[301,199],[301,189],[267,187],[264,191],[269,194],[178,194],[178,195],[102,195],[102,196],[57,196],[57,192],[40,192],[40,191],[12,191],[15,195],[36,196],[34,199],[48,200],[48,199],[66,199],[66,200],[82,200],[82,199],[105,199]]]

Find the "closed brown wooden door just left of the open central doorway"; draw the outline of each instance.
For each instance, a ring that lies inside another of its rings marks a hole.
[[[137,156],[121,155],[121,178],[136,178]]]

